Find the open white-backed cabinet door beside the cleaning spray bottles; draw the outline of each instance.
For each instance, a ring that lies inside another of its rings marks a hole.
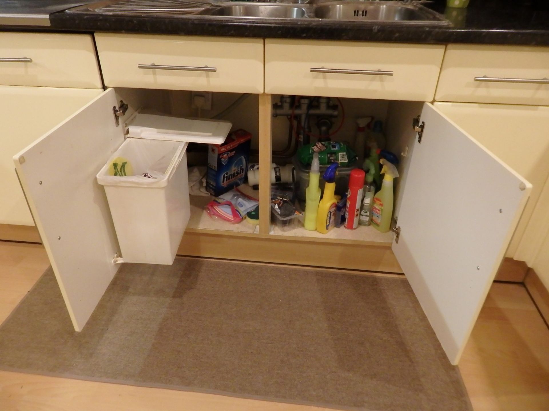
[[[452,364],[477,320],[531,189],[426,103],[393,252]]]

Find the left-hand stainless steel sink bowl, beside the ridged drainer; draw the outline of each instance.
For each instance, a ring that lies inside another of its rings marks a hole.
[[[205,9],[199,15],[249,17],[259,19],[302,19],[306,10],[287,4],[234,4],[219,8]]]

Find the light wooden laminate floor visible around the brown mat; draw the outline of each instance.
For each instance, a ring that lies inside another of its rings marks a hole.
[[[0,242],[0,322],[48,267],[34,244]],[[549,329],[519,284],[495,283],[460,363],[475,411],[549,410]],[[0,410],[327,409],[0,371]]]

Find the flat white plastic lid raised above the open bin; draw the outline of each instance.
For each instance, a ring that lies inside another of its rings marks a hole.
[[[131,138],[223,144],[232,123],[203,118],[181,118],[137,113],[128,125]]]

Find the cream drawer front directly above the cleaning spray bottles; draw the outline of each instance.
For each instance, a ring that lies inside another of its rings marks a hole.
[[[265,93],[432,101],[444,45],[265,41]]]

